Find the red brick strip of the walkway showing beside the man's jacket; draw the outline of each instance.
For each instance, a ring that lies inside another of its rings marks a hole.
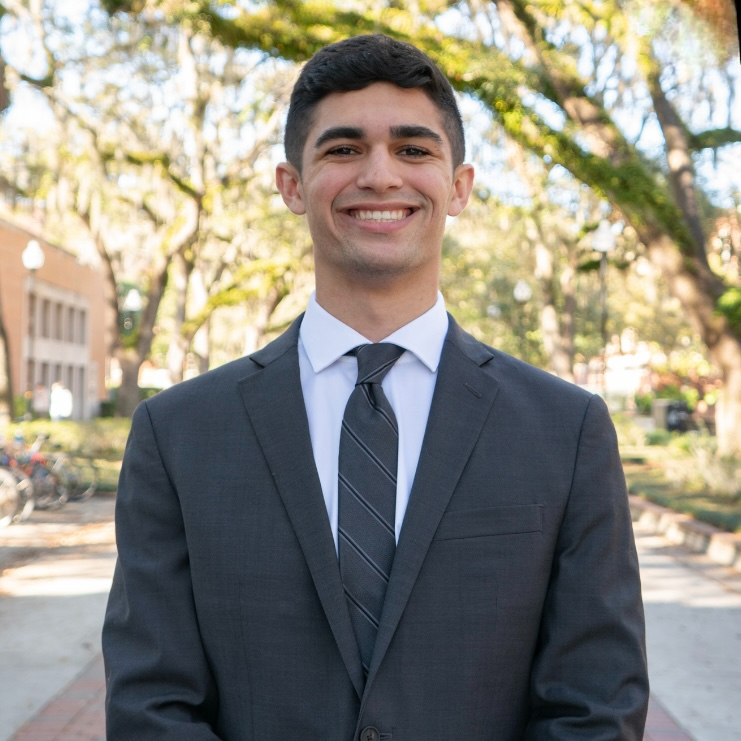
[[[105,741],[105,678],[98,657],[11,741]],[[644,741],[693,741],[652,697]]]

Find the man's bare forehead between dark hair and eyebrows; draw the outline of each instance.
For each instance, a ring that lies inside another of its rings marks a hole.
[[[419,88],[401,88],[388,82],[376,82],[361,90],[330,93],[316,105],[307,136],[307,147],[330,128],[354,127],[368,137],[388,136],[392,129],[425,126],[449,143],[442,124],[442,114]]]

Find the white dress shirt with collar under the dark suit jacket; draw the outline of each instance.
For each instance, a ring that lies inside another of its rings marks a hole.
[[[442,294],[438,293],[437,302],[429,311],[382,340],[406,350],[382,383],[399,425],[395,523],[397,542],[422,450],[440,353],[447,331],[445,302]],[[298,358],[301,390],[309,418],[311,447],[314,450],[314,461],[327,505],[335,548],[340,429],[345,406],[355,388],[358,375],[358,361],[346,353],[368,342],[370,340],[325,311],[312,294],[301,322]]]

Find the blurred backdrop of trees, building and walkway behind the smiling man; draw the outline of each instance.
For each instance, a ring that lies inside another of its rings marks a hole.
[[[371,32],[420,46],[459,95],[477,184],[445,238],[448,310],[607,400],[643,533],[652,682],[692,737],[737,732],[731,0],[0,0],[0,464],[15,477],[0,468],[0,525],[14,525],[0,530],[0,631],[18,678],[0,695],[32,688],[6,703],[0,736],[97,661],[105,494],[136,404],[254,351],[305,306],[311,241],[273,180],[287,98],[313,52]],[[657,532],[714,554],[712,573],[670,578],[680,556]],[[94,604],[74,607],[83,594]],[[50,648],[39,636],[63,610],[87,627]]]

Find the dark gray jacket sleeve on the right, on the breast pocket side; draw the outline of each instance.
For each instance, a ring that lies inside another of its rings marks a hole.
[[[640,741],[648,694],[625,477],[607,407],[594,396],[553,559],[525,738]]]

